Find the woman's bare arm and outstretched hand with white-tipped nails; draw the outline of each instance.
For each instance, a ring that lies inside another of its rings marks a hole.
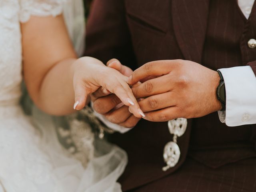
[[[35,17],[21,24],[23,72],[28,92],[45,112],[66,115],[80,110],[88,94],[103,86],[117,94],[132,112],[141,117],[138,103],[126,77],[99,60],[77,60],[62,16]],[[130,101],[131,100],[131,101]]]

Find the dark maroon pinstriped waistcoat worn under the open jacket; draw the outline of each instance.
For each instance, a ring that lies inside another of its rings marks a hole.
[[[251,17],[254,13],[255,6]],[[250,55],[251,60],[256,60],[255,50],[248,46],[243,50],[240,46],[248,41],[244,36],[248,36],[245,32],[248,26],[253,26],[251,17],[247,21],[234,0],[211,0],[202,64],[217,70],[247,64],[250,60],[243,55]],[[241,50],[252,53],[241,54]],[[256,156],[252,138],[255,125],[228,127],[214,119],[218,119],[216,113],[193,120],[189,152],[192,158],[217,168]]]

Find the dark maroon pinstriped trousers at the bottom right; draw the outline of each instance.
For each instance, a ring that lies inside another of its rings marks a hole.
[[[187,158],[173,174],[128,192],[255,192],[255,158],[218,169]]]

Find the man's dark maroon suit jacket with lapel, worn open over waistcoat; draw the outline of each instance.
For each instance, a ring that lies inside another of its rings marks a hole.
[[[132,69],[152,60],[180,58],[201,63],[209,4],[210,0],[95,0],[87,24],[85,54],[103,62],[118,58]],[[256,14],[256,6],[252,14]],[[241,65],[250,64],[256,74],[256,49],[247,46],[248,39],[255,38],[254,34],[256,16],[251,16],[241,36]],[[177,170],[188,153],[191,126],[190,120],[186,133],[178,139],[179,163],[167,172],[161,170],[164,166],[162,150],[172,139],[166,122],[141,120],[124,136],[114,134],[112,141],[129,155],[128,167],[120,180],[123,189],[141,186]],[[246,155],[256,156],[255,152],[244,154],[243,150],[239,154],[232,160],[223,157],[217,163],[208,159],[205,164],[218,167]]]

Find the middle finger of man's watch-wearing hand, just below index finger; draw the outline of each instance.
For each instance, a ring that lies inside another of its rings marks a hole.
[[[165,93],[172,90],[172,79],[170,74],[148,80],[138,86],[132,87],[136,98],[144,98],[151,95]]]

